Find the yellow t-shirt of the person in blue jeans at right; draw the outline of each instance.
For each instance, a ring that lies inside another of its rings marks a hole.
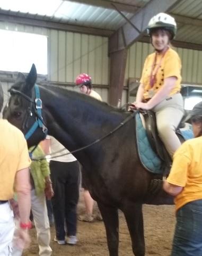
[[[167,178],[170,184],[183,187],[175,196],[175,209],[202,199],[202,136],[184,142],[174,154]]]

